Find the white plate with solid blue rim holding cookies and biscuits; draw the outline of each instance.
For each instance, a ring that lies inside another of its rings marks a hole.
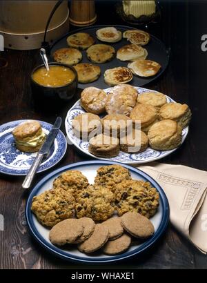
[[[28,202],[26,204],[26,220],[28,222],[28,226],[30,228],[30,232],[32,233],[33,237],[43,246],[43,248],[46,248],[50,253],[53,255],[56,255],[58,257],[61,257],[64,260],[70,260],[73,262],[79,262],[79,263],[95,263],[95,264],[103,264],[106,262],[118,262],[120,260],[126,260],[130,257],[135,257],[136,255],[139,255],[143,253],[144,251],[147,251],[148,248],[153,246],[157,240],[163,235],[163,233],[166,231],[166,227],[168,226],[169,221],[169,204],[168,199],[162,190],[162,188],[155,182],[152,177],[144,173],[143,171],[133,168],[128,165],[123,165],[124,167],[128,168],[130,170],[130,173],[132,175],[133,179],[142,179],[145,182],[150,182],[150,184],[157,189],[159,192],[159,208],[157,213],[150,218],[152,224],[155,227],[155,234],[152,235],[152,237],[148,238],[145,242],[141,242],[139,244],[133,244],[130,246],[128,251],[121,253],[120,255],[104,255],[101,250],[86,255],[84,253],[81,253],[76,245],[70,245],[67,248],[62,246],[57,247],[53,245],[49,240],[49,233],[50,230],[44,226],[42,226],[35,215],[31,211],[31,205],[32,205],[32,198],[35,195],[40,195],[44,191],[48,190],[49,188],[52,188],[52,182],[54,179],[59,176],[61,173],[63,173],[66,170],[79,170],[83,175],[85,175],[88,178],[88,182],[92,184],[94,182],[95,176],[97,175],[97,169],[100,166],[106,166],[111,164],[118,164],[117,162],[106,162],[106,161],[86,161],[86,162],[78,162],[75,164],[70,164],[67,166],[64,166],[62,168],[59,168],[52,173],[48,174],[46,177],[41,179],[41,181],[32,189],[29,197]]]

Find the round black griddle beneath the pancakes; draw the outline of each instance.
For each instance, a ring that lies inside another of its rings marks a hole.
[[[99,28],[105,28],[108,26],[110,25],[90,26],[90,27],[80,28],[78,30],[73,30],[72,32],[68,32],[66,35],[64,35],[63,37],[58,39],[55,43],[53,43],[52,46],[50,47],[50,54],[51,54],[50,60],[51,61],[53,60],[52,54],[53,52],[55,52],[55,50],[59,48],[68,47],[68,44],[66,41],[67,37],[77,32],[87,32],[88,34],[92,35],[96,39],[95,43],[109,44],[113,46],[116,51],[122,46],[126,44],[130,44],[130,41],[127,41],[126,39],[121,39],[121,41],[117,43],[106,43],[106,42],[99,41],[99,39],[97,39],[96,37],[96,31]],[[135,30],[135,28],[131,28],[129,26],[119,26],[119,25],[113,25],[113,26],[117,28],[117,30],[120,30],[121,32],[124,32],[125,30]],[[152,61],[157,61],[159,64],[161,64],[161,70],[157,73],[157,75],[153,77],[143,78],[143,77],[136,77],[135,75],[133,75],[133,79],[129,83],[132,86],[144,86],[146,84],[149,84],[151,81],[154,81],[155,79],[157,79],[166,70],[168,66],[169,54],[168,54],[168,50],[166,49],[166,46],[164,45],[163,42],[157,39],[157,37],[154,37],[153,35],[150,35],[150,37],[151,37],[150,42],[146,46],[144,46],[144,48],[148,50],[147,59],[150,59]],[[82,50],[81,52],[83,55],[83,59],[80,63],[92,63],[86,56],[86,50]],[[128,61],[120,61],[119,59],[115,57],[114,59],[112,59],[112,61],[109,61],[103,64],[95,64],[95,65],[98,65],[101,68],[101,76],[99,77],[99,79],[97,79],[97,81],[93,81],[90,84],[79,84],[78,85],[79,88],[83,89],[83,88],[87,88],[88,86],[95,86],[97,88],[102,88],[102,89],[109,88],[110,86],[108,86],[108,84],[106,84],[103,79],[103,74],[105,70],[110,69],[110,68],[119,67],[119,66],[126,67],[128,65]]]

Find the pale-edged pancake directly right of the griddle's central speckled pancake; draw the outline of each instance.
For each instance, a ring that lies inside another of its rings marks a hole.
[[[148,52],[145,48],[135,44],[128,44],[119,48],[117,59],[121,61],[135,61],[137,59],[146,59]]]

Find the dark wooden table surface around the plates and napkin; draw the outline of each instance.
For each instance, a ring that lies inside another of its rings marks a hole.
[[[187,1],[186,1],[187,2]],[[181,3],[164,1],[162,22],[150,26],[152,34],[162,39],[171,48],[168,70],[148,88],[159,90],[176,101],[189,104],[193,112],[190,133],[186,142],[175,153],[162,162],[184,164],[207,170],[207,111],[206,111],[206,58],[201,52],[201,35],[205,26],[206,3]],[[105,8],[104,8],[105,7]],[[98,23],[120,23],[112,3],[97,5]],[[108,8],[109,7],[109,8]],[[104,9],[108,17],[104,16]],[[196,23],[196,25],[195,25]],[[199,28],[200,27],[200,28]],[[0,57],[8,66],[0,68],[0,124],[16,119],[40,119],[53,123],[57,115],[64,119],[66,111],[79,98],[79,92],[72,101],[53,113],[34,108],[30,91],[30,73],[39,62],[38,50],[1,52]],[[49,105],[48,105],[49,108]],[[61,130],[65,133],[64,126]],[[55,167],[88,159],[80,155],[73,146],[68,146],[66,156]],[[52,170],[54,170],[53,168]],[[35,183],[50,173],[37,175]],[[59,260],[37,244],[28,232],[25,219],[25,204],[28,193],[23,192],[23,177],[0,175],[0,214],[4,216],[5,231],[0,231],[1,269],[80,269],[96,266],[81,266]],[[100,266],[99,266],[100,267]],[[98,267],[97,267],[98,268]],[[109,266],[101,266],[108,269]],[[113,269],[206,269],[207,258],[169,225],[164,237],[148,253],[134,260],[112,265]]]

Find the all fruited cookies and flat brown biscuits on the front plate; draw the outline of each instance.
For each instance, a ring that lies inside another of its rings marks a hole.
[[[123,166],[109,165],[98,168],[92,185],[78,170],[63,172],[54,180],[51,190],[32,199],[31,209],[41,224],[53,227],[50,231],[53,244],[79,244],[80,251],[90,253],[110,240],[105,252],[113,254],[111,245],[117,246],[122,241],[128,242],[127,248],[130,245],[123,227],[130,235],[142,239],[154,233],[148,218],[155,215],[158,207],[156,188],[149,182],[132,179]],[[119,217],[115,217],[117,214]],[[151,228],[145,231],[143,225]]]

